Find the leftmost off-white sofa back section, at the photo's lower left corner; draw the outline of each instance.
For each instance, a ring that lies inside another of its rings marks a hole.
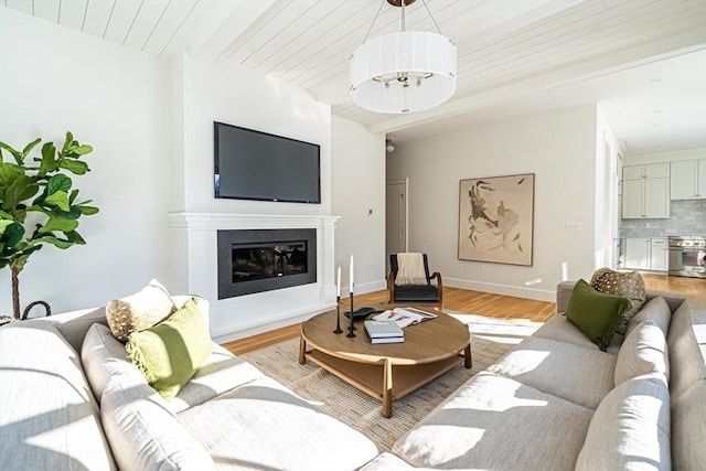
[[[44,320],[0,328],[0,457],[3,470],[116,468],[78,354]]]

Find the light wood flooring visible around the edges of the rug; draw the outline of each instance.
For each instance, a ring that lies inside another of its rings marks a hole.
[[[668,277],[666,275],[643,274],[648,289],[673,292],[676,296],[694,298],[706,302],[706,279]],[[342,300],[342,306],[346,300]],[[379,306],[387,302],[387,290],[359,295],[354,298],[356,307]],[[500,319],[527,319],[545,322],[555,313],[554,302],[513,298],[489,292],[471,291],[459,288],[443,288],[443,307],[451,311],[461,311]],[[259,335],[225,343],[223,346],[236,355],[263,349],[299,335],[300,324],[288,325]]]

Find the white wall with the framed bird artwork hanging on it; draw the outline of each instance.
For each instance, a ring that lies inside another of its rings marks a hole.
[[[387,157],[387,178],[409,178],[409,250],[426,251],[447,286],[531,299],[554,300],[563,261],[570,278],[590,277],[597,119],[587,105],[400,143]],[[459,260],[459,181],[518,173],[535,173],[533,266]],[[567,232],[567,223],[581,232]]]

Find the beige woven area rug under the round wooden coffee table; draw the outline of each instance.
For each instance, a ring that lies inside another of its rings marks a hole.
[[[381,451],[386,451],[471,376],[498,361],[514,344],[520,343],[542,325],[536,322],[506,321],[475,314],[456,312],[450,314],[468,324],[472,332],[473,367],[467,370],[459,366],[396,400],[393,404],[393,417],[389,419],[382,416],[379,400],[361,393],[310,362],[300,365],[299,339],[242,356],[268,376],[318,405],[327,414],[363,432],[377,445]]]

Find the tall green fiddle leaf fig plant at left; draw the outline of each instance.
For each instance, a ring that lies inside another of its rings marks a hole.
[[[0,141],[0,270],[9,267],[12,275],[12,313],[20,319],[19,274],[32,254],[44,244],[61,249],[86,242],[76,232],[81,216],[98,213],[90,200],[78,201],[78,190],[66,173],[83,175],[90,171],[83,157],[93,147],[81,144],[71,132],[61,149],[45,142],[41,157],[30,157],[40,144],[38,138],[17,150]],[[3,153],[4,151],[4,153]],[[6,161],[6,153],[9,161]],[[49,304],[42,303],[50,314]]]

